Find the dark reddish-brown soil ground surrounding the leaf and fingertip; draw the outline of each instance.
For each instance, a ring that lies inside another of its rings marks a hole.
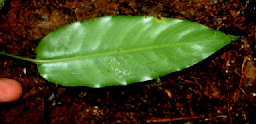
[[[115,15],[190,20],[242,39],[159,80],[106,88],[56,87],[36,64],[0,56],[0,78],[23,87],[20,100],[0,104],[0,123],[255,124],[255,0],[7,0],[0,51],[35,58],[38,42],[56,28]]]

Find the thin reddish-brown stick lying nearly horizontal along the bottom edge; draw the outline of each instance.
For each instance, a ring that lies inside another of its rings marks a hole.
[[[173,122],[173,121],[177,121],[177,120],[196,120],[196,119],[202,119],[203,116],[204,115],[191,116],[191,117],[179,117],[179,118],[165,118],[165,119],[147,120],[147,123]]]

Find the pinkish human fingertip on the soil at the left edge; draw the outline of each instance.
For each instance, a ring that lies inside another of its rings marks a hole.
[[[12,79],[0,78],[0,103],[14,102],[22,95],[22,86]]]

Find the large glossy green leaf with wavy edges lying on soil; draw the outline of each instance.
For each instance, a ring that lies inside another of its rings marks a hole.
[[[239,38],[179,19],[106,16],[58,28],[26,59],[50,82],[98,88],[182,70]]]

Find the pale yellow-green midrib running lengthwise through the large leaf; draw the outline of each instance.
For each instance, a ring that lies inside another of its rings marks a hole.
[[[49,63],[49,62],[79,60],[79,59],[84,59],[84,58],[94,58],[94,57],[97,57],[97,56],[110,56],[110,55],[116,55],[116,54],[125,54],[125,53],[131,53],[131,52],[139,52],[139,51],[143,51],[143,50],[151,50],[151,49],[157,49],[157,48],[165,48],[165,47],[177,46],[177,45],[182,45],[182,44],[192,44],[192,43],[194,44],[194,43],[201,43],[201,42],[207,42],[207,41],[181,42],[181,43],[173,43],[173,44],[161,44],[161,45],[145,46],[145,47],[139,47],[139,48],[125,49],[125,50],[101,52],[101,53],[96,53],[96,54],[89,54],[89,55],[83,55],[83,56],[75,56],[75,57],[69,57],[69,58],[58,58],[58,59],[49,59],[49,60],[35,59],[35,62],[36,63]]]

